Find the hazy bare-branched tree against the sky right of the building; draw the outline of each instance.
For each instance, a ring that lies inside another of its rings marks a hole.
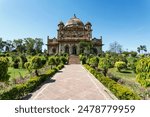
[[[121,53],[122,52],[122,46],[118,42],[113,42],[109,45],[110,52],[115,52],[115,53]]]

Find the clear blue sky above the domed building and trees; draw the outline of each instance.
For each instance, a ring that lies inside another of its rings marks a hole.
[[[76,14],[92,23],[103,49],[117,41],[124,50],[146,45],[150,52],[150,0],[0,0],[0,37],[4,40],[57,36],[57,24]]]

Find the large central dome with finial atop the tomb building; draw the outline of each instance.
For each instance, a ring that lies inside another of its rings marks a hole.
[[[83,22],[74,15],[73,18],[71,18],[65,25],[65,27],[84,27]]]

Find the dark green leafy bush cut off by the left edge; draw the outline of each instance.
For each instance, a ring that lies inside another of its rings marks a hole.
[[[0,57],[0,82],[8,81],[8,59],[5,57]]]

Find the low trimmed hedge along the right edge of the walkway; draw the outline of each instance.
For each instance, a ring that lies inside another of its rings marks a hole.
[[[122,86],[115,82],[114,80],[103,76],[101,73],[90,67],[89,65],[84,65],[84,67],[89,70],[104,86],[106,86],[118,99],[121,100],[139,100],[140,97],[131,91],[129,88]]]

